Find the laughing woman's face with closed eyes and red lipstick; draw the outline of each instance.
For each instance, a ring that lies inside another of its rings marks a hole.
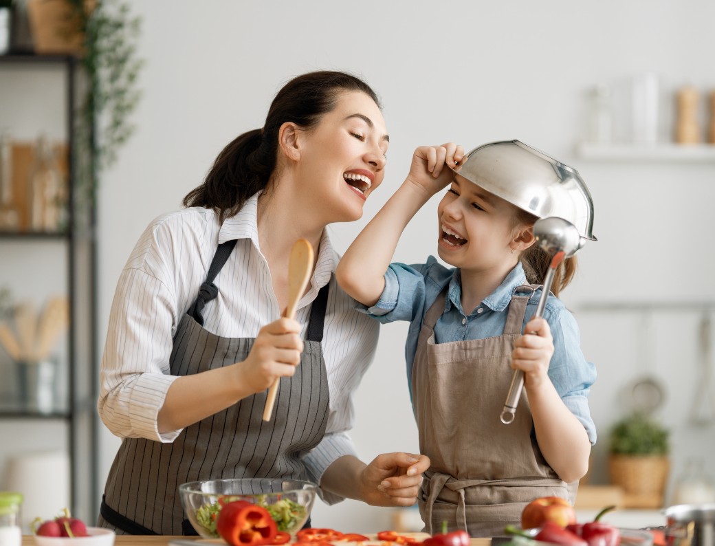
[[[363,92],[340,92],[332,112],[300,132],[296,176],[325,223],[358,220],[385,176],[390,139],[380,108]]]

